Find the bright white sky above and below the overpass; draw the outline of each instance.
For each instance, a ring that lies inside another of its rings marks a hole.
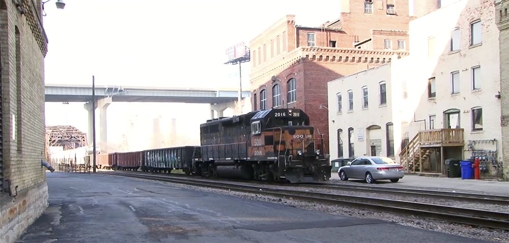
[[[58,10],[55,2],[44,6],[46,84],[91,84],[94,75],[96,85],[183,88],[237,88],[238,67],[223,64],[227,48],[248,44],[287,14],[295,14],[299,25],[332,21],[340,17],[341,3],[69,0]],[[249,67],[242,68],[248,90]],[[176,118],[179,132],[199,143],[199,125],[210,116],[208,105],[184,103],[112,103],[107,111],[111,143],[120,143],[136,117],[135,126],[145,131],[138,133],[147,134],[138,140],[150,140],[151,119],[159,116]],[[87,116],[82,103],[46,103],[46,125],[72,125],[87,133]]]

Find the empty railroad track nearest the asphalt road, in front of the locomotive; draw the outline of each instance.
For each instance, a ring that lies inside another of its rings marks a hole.
[[[305,192],[286,189],[273,189],[262,186],[239,185],[224,181],[204,181],[183,177],[167,177],[156,175],[139,175],[137,173],[99,172],[104,175],[124,176],[138,179],[157,180],[199,187],[232,190],[238,192],[264,194],[283,198],[293,198],[329,204],[345,204],[364,209],[388,211],[418,215],[425,218],[440,219],[449,222],[509,230],[509,213],[485,210],[465,209],[461,207],[437,205],[421,202],[410,202],[384,198],[361,197],[352,195],[338,195],[331,193]]]

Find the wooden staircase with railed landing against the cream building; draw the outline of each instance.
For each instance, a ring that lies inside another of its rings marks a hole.
[[[431,154],[447,146],[464,146],[463,128],[419,131],[401,150],[401,165],[407,172],[423,172],[423,163]]]

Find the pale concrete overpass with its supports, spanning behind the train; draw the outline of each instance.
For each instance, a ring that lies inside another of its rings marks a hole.
[[[106,109],[112,102],[179,102],[208,103],[210,116],[222,117],[224,110],[234,108],[238,99],[235,89],[160,88],[115,85],[95,86],[95,108],[99,108],[99,146],[107,145]],[[242,98],[250,98],[250,91],[243,91]],[[89,112],[88,142],[92,143],[92,85],[46,84],[46,102],[85,102]]]

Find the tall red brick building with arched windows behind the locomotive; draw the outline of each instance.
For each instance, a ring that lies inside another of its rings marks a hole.
[[[327,82],[408,55],[408,10],[408,1],[343,0],[341,17],[317,27],[278,20],[249,43],[252,109],[303,109],[328,148]]]

